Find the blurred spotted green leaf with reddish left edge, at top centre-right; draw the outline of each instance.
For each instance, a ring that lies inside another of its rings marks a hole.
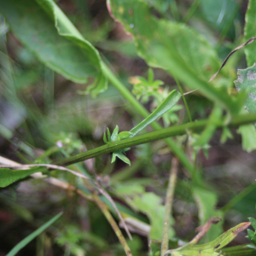
[[[208,80],[218,69],[217,52],[197,32],[176,22],[157,20],[150,14],[148,4],[137,0],[109,0],[110,14],[125,26],[135,38],[138,54],[152,67],[163,67],[148,50],[156,42],[166,42],[174,48],[185,65],[202,79]]]

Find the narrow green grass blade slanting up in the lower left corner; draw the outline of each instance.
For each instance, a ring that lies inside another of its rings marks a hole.
[[[26,245],[31,242],[35,237],[40,235],[44,230],[46,230],[51,224],[53,224],[58,218],[61,217],[63,213],[60,212],[57,215],[55,215],[54,218],[49,219],[48,222],[46,222],[44,225],[42,225],[38,230],[35,230],[30,234],[29,236],[26,236],[22,241],[20,241],[6,256],[15,256],[19,251],[26,247]]]

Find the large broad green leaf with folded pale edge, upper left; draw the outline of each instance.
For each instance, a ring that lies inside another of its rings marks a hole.
[[[107,81],[97,50],[54,1],[1,1],[0,12],[20,42],[47,67],[76,83],[86,83],[89,77],[94,77],[100,87],[95,84],[90,87],[93,96],[106,90]]]

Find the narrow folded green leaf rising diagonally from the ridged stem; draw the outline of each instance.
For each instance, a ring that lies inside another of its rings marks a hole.
[[[160,106],[148,116],[148,118],[144,119],[140,124],[131,129],[130,132],[132,135],[130,137],[134,137],[139,131],[142,131],[146,126],[154,122],[155,119],[160,118],[178,102],[180,97],[181,95],[177,90],[172,90],[169,96],[166,97],[165,101],[162,102]]]

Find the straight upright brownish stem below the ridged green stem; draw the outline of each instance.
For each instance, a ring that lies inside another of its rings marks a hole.
[[[169,177],[169,184],[166,193],[166,208],[165,208],[165,218],[164,218],[164,227],[163,227],[163,238],[161,246],[161,256],[164,256],[168,250],[169,244],[169,230],[170,230],[170,217],[172,213],[172,201],[175,190],[175,184],[177,180],[177,158],[172,159],[172,168]]]

